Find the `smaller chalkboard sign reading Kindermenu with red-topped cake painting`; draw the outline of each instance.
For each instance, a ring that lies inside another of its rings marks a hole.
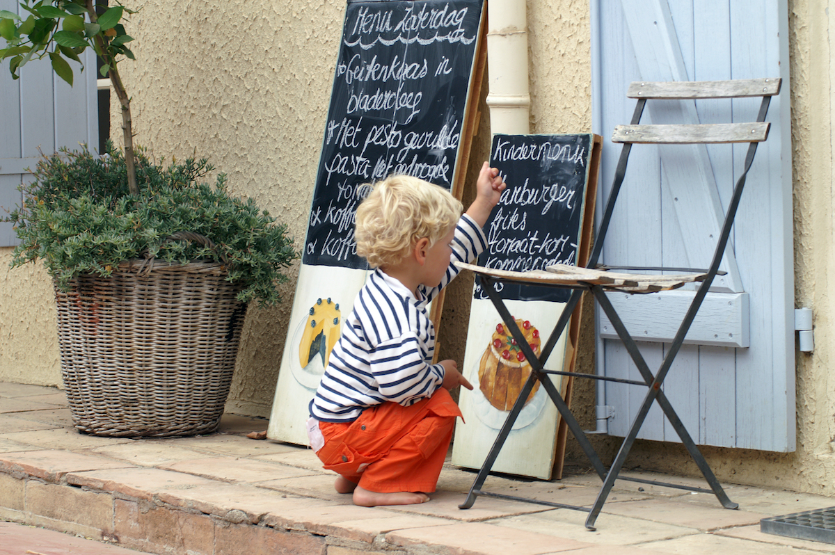
[[[580,135],[494,135],[490,164],[507,183],[484,230],[488,250],[478,265],[501,270],[544,270],[552,264],[582,260],[584,229],[591,225],[587,206],[590,176],[596,179],[592,151],[595,138]],[[586,247],[587,249],[587,247]],[[569,292],[529,285],[501,285],[499,294],[514,315],[534,353],[554,329]],[[545,368],[563,370],[567,333],[563,333]],[[465,424],[459,422],[453,442],[453,464],[478,468],[504,424],[524,382],[529,361],[493,303],[478,285],[467,335],[462,371],[475,386],[459,400]],[[558,391],[563,380],[551,376]],[[559,412],[537,384],[510,432],[493,472],[549,479],[554,467]]]

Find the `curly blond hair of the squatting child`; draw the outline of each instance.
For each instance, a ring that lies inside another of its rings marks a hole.
[[[448,190],[410,175],[392,175],[372,185],[357,208],[357,255],[372,268],[397,265],[417,240],[429,246],[458,224],[463,205]]]

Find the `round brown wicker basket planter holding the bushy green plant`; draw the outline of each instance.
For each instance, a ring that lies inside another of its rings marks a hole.
[[[79,431],[193,436],[220,423],[246,312],[240,286],[213,261],[148,262],[55,290],[61,373]]]

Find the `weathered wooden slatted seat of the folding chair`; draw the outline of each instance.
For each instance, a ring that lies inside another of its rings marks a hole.
[[[503,280],[514,280],[539,285],[565,285],[582,287],[587,284],[602,285],[608,290],[620,290],[630,293],[650,293],[654,291],[678,289],[687,283],[704,281],[706,274],[625,274],[608,270],[595,270],[572,265],[555,264],[546,270],[517,272],[498,270],[483,266],[456,262],[459,268],[476,274],[488,275]]]

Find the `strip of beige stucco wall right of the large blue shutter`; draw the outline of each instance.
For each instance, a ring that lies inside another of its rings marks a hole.
[[[791,3],[792,160],[795,164],[796,306],[814,310],[815,351],[797,356],[798,481],[835,493],[835,369],[832,314],[835,275],[835,8],[826,0]]]

